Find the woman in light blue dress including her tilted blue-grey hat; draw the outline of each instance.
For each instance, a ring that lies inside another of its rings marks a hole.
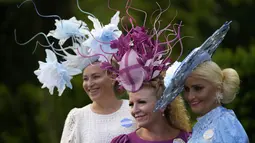
[[[181,63],[170,67],[167,83],[169,94],[164,94],[155,109],[171,103],[184,89],[184,99],[198,114],[190,143],[247,143],[248,137],[232,110],[222,104],[234,100],[240,79],[233,69],[224,69],[211,61],[211,56],[224,39],[231,22],[224,23],[201,46],[195,48]]]

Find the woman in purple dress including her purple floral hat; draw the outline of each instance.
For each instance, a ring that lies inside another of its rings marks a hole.
[[[170,23],[163,29],[154,27],[149,31],[135,26],[133,17],[129,14],[128,17],[132,28],[111,41],[111,48],[117,52],[110,62],[102,63],[102,68],[115,73],[120,86],[128,92],[138,129],[115,137],[111,143],[185,143],[191,126],[182,97],[177,97],[165,109],[154,111],[166,87],[163,76],[170,65],[172,45],[181,41],[181,24]],[[161,36],[165,41],[159,41]]]

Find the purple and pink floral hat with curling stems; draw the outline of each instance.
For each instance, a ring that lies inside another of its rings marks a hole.
[[[127,11],[128,9],[129,7]],[[138,91],[143,82],[154,79],[168,68],[171,64],[171,50],[177,43],[180,43],[182,48],[181,23],[169,23],[162,29],[160,26],[156,27],[162,13],[163,11],[157,16],[154,27],[149,30],[145,26],[136,26],[133,23],[135,20],[127,12],[131,29],[125,29],[126,34],[111,41],[111,48],[118,50],[113,54],[114,59],[110,63],[102,63],[102,68],[114,72],[120,86],[129,92]],[[160,41],[160,37],[164,41]],[[113,63],[117,63],[118,67]]]

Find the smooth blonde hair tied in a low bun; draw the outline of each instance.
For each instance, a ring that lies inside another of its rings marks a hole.
[[[192,74],[198,75],[219,88],[223,95],[221,103],[228,104],[232,102],[239,90],[240,78],[238,73],[232,68],[221,68],[213,61],[207,61],[200,64]]]

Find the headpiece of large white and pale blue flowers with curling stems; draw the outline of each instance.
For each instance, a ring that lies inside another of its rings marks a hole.
[[[47,87],[50,94],[53,94],[54,88],[56,87],[59,92],[58,95],[61,96],[66,86],[72,88],[70,80],[74,75],[82,73],[82,70],[92,62],[105,62],[110,60],[112,54],[117,52],[117,49],[110,47],[110,41],[119,38],[122,33],[118,29],[118,23],[120,21],[119,11],[111,18],[108,25],[102,25],[94,15],[82,11],[88,14],[88,19],[93,22],[94,27],[92,30],[89,30],[85,22],[77,20],[75,17],[65,20],[59,16],[41,15],[37,9],[36,12],[42,17],[58,18],[58,20],[55,20],[55,30],[49,31],[47,36],[40,32],[32,38],[34,39],[38,35],[43,35],[48,45],[42,45],[38,41],[37,44],[39,43],[43,47],[51,48],[45,49],[46,62],[39,61],[39,68],[34,72],[38,80],[43,84],[42,88]],[[53,37],[59,42],[57,44],[50,42],[49,37]],[[67,39],[71,39],[71,44],[64,47],[64,45],[67,45]],[[17,43],[25,45],[28,42]]]

